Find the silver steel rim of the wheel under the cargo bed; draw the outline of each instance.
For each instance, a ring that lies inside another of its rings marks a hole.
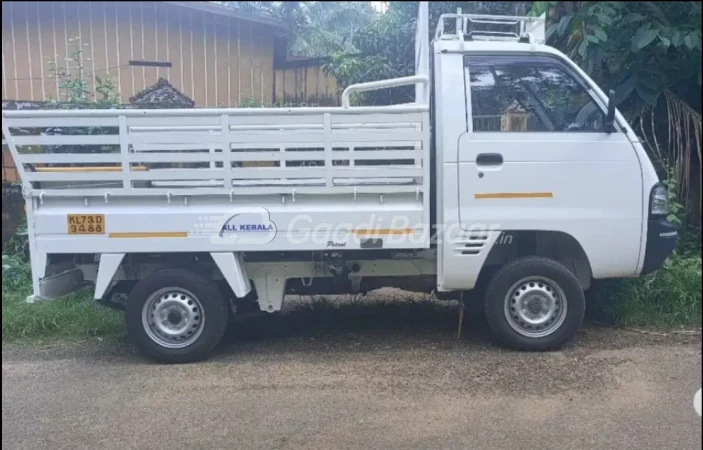
[[[205,311],[192,292],[167,287],[151,294],[144,303],[142,325],[156,344],[165,348],[184,348],[203,333]]]

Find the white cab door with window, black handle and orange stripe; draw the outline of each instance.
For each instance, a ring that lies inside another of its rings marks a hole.
[[[464,57],[468,132],[458,145],[463,229],[544,230],[574,237],[595,278],[635,275],[642,174],[626,134],[555,56]]]

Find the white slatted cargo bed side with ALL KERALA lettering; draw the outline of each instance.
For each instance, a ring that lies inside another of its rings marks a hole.
[[[3,111],[3,135],[40,254],[429,247],[424,105]]]

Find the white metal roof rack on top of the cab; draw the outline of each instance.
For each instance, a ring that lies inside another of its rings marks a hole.
[[[456,21],[454,31],[446,31],[446,21]],[[483,14],[462,14],[461,9],[456,14],[442,14],[437,23],[435,40],[449,39],[464,41],[508,41],[519,42],[526,40],[531,44],[545,43],[546,15],[539,17],[527,16],[492,16]]]

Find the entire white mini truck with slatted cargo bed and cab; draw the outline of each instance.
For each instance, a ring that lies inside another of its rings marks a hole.
[[[164,362],[207,357],[232,314],[286,294],[384,286],[474,290],[511,348],[569,341],[592,280],[673,250],[666,189],[544,17],[447,14],[431,45],[427,21],[421,3],[416,75],[342,107],[3,110],[28,301],[126,293],[130,336]],[[415,103],[349,105],[407,85]]]

